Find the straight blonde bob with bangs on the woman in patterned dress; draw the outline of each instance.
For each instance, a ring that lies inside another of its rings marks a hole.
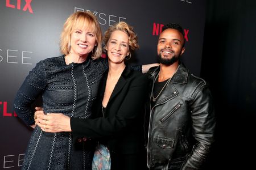
[[[71,48],[71,34],[74,29],[84,28],[91,30],[96,37],[96,46],[91,52],[93,59],[100,58],[102,54],[102,33],[101,27],[96,16],[91,12],[77,11],[69,16],[63,25],[63,31],[60,36],[60,51],[64,55],[68,55]]]

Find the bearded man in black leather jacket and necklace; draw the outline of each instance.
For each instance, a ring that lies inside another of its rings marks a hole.
[[[151,80],[145,124],[150,169],[200,169],[214,141],[212,96],[205,80],[180,62],[184,43],[180,25],[164,25],[157,47],[160,66],[147,73]]]

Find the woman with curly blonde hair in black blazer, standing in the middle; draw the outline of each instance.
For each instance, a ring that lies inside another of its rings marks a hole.
[[[46,132],[71,131],[74,139],[97,139],[110,151],[111,169],[143,169],[144,99],[148,79],[125,66],[125,58],[137,49],[137,36],[125,22],[105,32],[109,70],[102,77],[94,118],[69,118],[59,113],[38,116]],[[47,128],[46,128],[47,127]]]

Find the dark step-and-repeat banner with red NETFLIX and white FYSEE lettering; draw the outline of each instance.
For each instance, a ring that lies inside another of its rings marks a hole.
[[[200,75],[204,0],[1,0],[0,1],[0,169],[20,169],[32,129],[13,111],[24,78],[42,59],[60,56],[59,37],[75,11],[97,16],[102,32],[119,21],[132,25],[141,48],[131,64],[156,62],[158,36],[165,23],[179,23],[185,32],[185,65]]]

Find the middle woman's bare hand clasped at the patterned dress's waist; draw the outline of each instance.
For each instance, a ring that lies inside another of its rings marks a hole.
[[[38,112],[38,111],[36,111]],[[36,124],[46,132],[71,131],[70,117],[62,113],[36,114]]]

